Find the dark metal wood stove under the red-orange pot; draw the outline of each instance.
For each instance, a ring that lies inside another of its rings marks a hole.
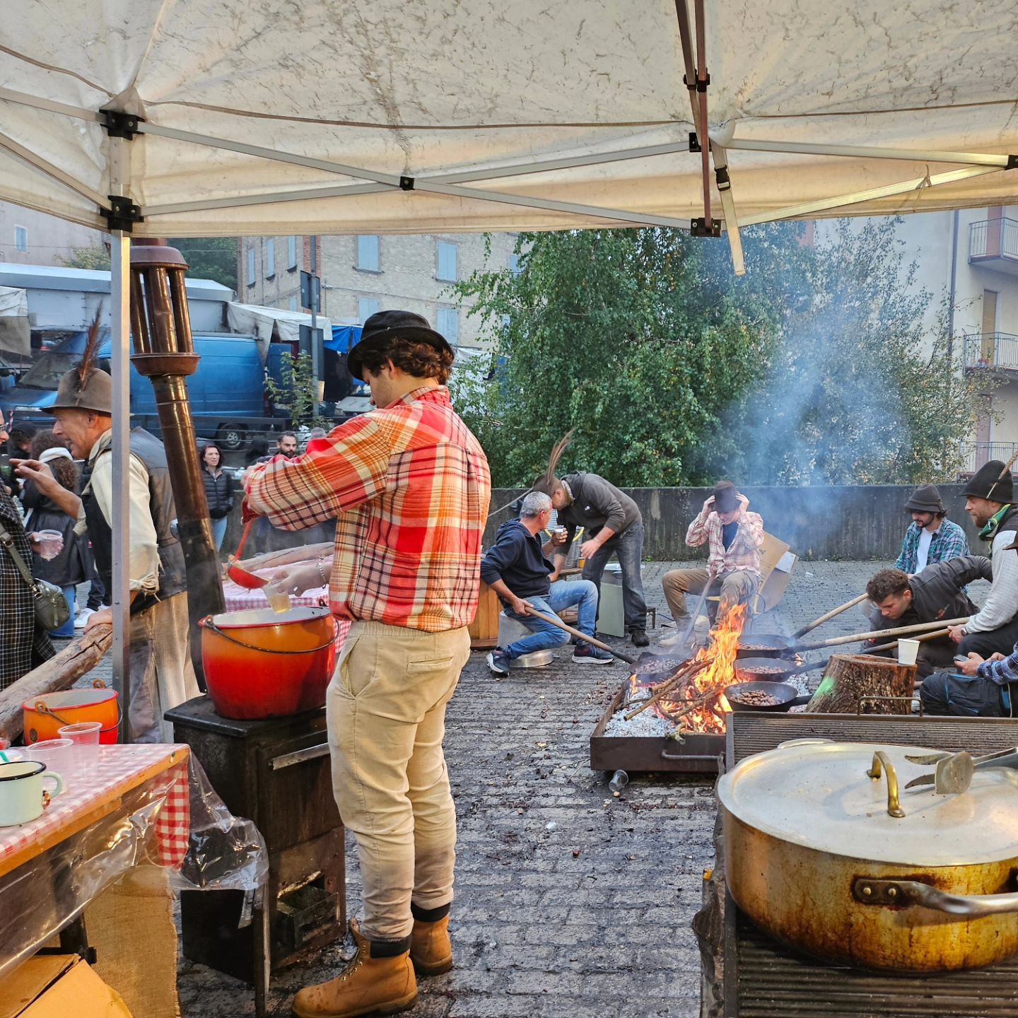
[[[166,717],[227,808],[253,821],[269,849],[268,945],[259,943],[259,923],[245,921],[242,892],[185,891],[184,957],[253,981],[257,998],[264,997],[268,969],[346,930],[344,832],[332,794],[325,709],[230,721],[199,696]]]

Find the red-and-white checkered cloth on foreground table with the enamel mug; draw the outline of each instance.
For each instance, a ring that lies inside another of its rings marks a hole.
[[[81,830],[92,823],[90,815],[99,818],[105,807],[115,808],[121,797],[142,786],[157,808],[150,857],[160,865],[179,868],[190,834],[188,753],[187,746],[177,744],[100,746],[91,768],[66,769],[62,774],[66,789],[53,797],[42,816],[19,827],[0,828],[0,872],[9,870],[12,861],[18,865]],[[38,851],[29,851],[34,848]]]

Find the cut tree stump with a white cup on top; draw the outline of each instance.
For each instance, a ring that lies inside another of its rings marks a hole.
[[[831,656],[824,678],[807,714],[911,714],[915,665],[865,654]],[[875,699],[867,696],[900,696],[902,699]],[[863,700],[861,706],[859,701]]]

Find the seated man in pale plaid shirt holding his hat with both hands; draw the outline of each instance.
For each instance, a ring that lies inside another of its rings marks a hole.
[[[665,600],[671,609],[678,631],[661,641],[672,646],[684,635],[689,614],[687,593],[720,595],[719,616],[736,605],[745,605],[756,592],[760,581],[760,547],[764,544],[764,520],[759,513],[747,512],[749,499],[740,495],[730,480],[719,482],[714,494],[703,503],[700,514],[686,530],[690,548],[706,545],[706,569],[672,569],[662,577]]]

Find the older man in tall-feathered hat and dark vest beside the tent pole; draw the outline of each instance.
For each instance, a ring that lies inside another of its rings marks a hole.
[[[96,366],[99,320],[77,367],[60,380],[53,433],[70,445],[75,459],[86,460],[81,497],[68,491],[39,460],[17,460],[17,472],[36,482],[68,515],[77,518],[76,532],[88,532],[96,569],[107,590],[113,589],[113,527],[128,526],[130,577],[130,710],[131,742],[171,742],[165,712],[199,694],[188,649],[184,557],[170,529],[176,518],[163,444],[140,428],[130,432],[128,467],[129,516],[113,518],[113,383]],[[95,612],[86,631],[110,623],[112,613]]]

